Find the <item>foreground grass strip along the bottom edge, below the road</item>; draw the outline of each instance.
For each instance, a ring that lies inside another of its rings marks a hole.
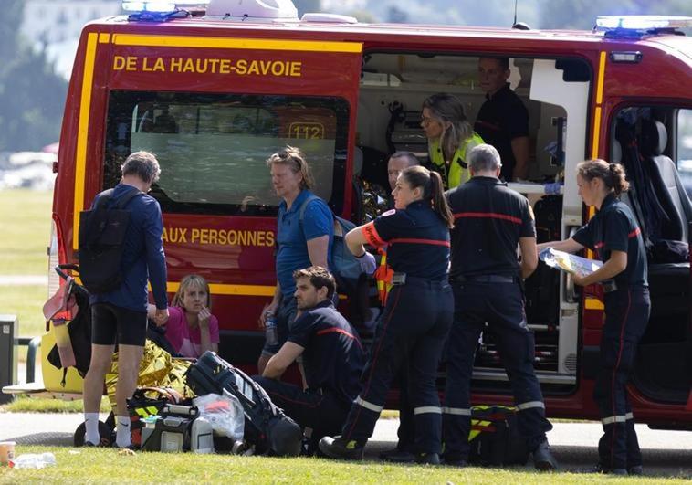
[[[46,469],[0,469],[0,483],[684,483],[595,474],[541,474],[526,469],[454,469],[328,459],[273,459],[190,453],[121,455],[107,448],[17,447],[16,454],[55,454]]]

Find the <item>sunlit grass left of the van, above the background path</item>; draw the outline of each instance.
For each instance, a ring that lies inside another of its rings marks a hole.
[[[0,275],[46,274],[52,204],[52,192],[0,191]]]

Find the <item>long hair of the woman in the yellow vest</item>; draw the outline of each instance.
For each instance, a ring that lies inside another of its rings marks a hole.
[[[473,136],[473,128],[464,113],[464,104],[456,96],[440,92],[423,101],[423,107],[430,110],[435,121],[443,125],[444,121],[450,123],[442,134],[440,148],[446,157],[453,157],[461,143]]]

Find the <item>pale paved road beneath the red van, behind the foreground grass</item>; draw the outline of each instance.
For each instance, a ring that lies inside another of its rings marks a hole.
[[[19,452],[23,444],[69,447],[72,434],[81,421],[79,414],[0,414],[0,440],[15,440]],[[397,426],[396,419],[378,422],[375,435],[366,448],[368,459],[377,459],[380,451],[393,447]],[[555,423],[554,426],[549,438],[562,469],[586,469],[596,462],[596,443],[601,434],[599,424]],[[655,431],[637,425],[637,433],[647,475],[692,479],[692,432]]]

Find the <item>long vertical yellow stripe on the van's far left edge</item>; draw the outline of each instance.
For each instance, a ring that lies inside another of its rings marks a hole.
[[[79,125],[77,129],[77,155],[75,159],[75,201],[72,220],[72,248],[79,247],[79,212],[84,208],[84,175],[87,170],[87,138],[89,136],[89,111],[91,110],[91,89],[94,81],[94,61],[99,34],[87,37],[87,52],[84,56],[84,74],[81,81],[79,103]]]

